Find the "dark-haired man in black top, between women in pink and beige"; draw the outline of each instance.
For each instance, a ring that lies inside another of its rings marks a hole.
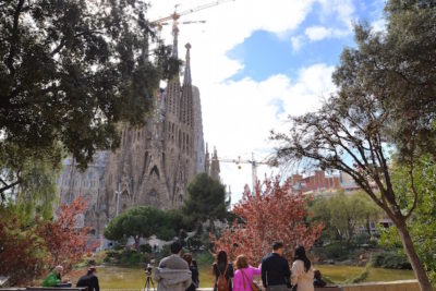
[[[267,291],[287,291],[291,271],[283,256],[283,243],[275,242],[272,253],[262,260],[262,283]]]

